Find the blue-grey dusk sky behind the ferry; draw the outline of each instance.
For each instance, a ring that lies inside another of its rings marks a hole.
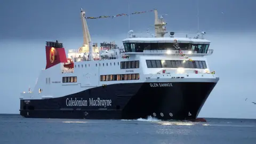
[[[256,118],[255,0],[199,0],[199,29],[206,31],[213,55],[207,57],[220,81],[207,99],[199,117]],[[19,94],[34,86],[45,67],[45,41],[58,39],[67,49],[82,45],[79,9],[87,17],[128,12],[128,1],[0,1],[0,52],[2,83],[0,113],[19,113]],[[195,34],[197,0],[130,0],[130,12],[158,9],[168,14],[167,30]],[[222,13],[223,12],[223,13]],[[154,13],[131,16],[135,32],[153,31]],[[87,20],[93,42],[121,44],[128,31],[128,18]],[[245,98],[248,98],[245,101]]]

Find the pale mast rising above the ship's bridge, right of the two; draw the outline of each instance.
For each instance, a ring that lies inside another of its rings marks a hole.
[[[163,15],[160,15],[160,20],[158,19],[158,13],[157,10],[154,10],[155,13],[155,35],[156,37],[164,37],[164,35],[167,33],[166,32],[166,27],[165,25],[167,24],[164,22],[164,17]]]

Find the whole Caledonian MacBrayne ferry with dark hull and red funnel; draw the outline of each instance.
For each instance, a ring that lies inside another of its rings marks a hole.
[[[204,32],[170,36],[155,12],[155,36],[129,31],[124,48],[92,43],[81,9],[83,46],[46,42],[46,68],[33,90],[20,95],[20,115],[31,118],[195,119],[219,81],[210,72]]]

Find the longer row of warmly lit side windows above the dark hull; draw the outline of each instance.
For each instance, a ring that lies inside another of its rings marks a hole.
[[[100,81],[139,80],[140,74],[101,75]]]

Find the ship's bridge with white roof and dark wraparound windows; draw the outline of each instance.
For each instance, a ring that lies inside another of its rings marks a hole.
[[[184,53],[195,55],[211,55],[209,50],[210,41],[206,39],[188,37],[132,37],[123,40],[126,53],[177,53],[182,50]]]

